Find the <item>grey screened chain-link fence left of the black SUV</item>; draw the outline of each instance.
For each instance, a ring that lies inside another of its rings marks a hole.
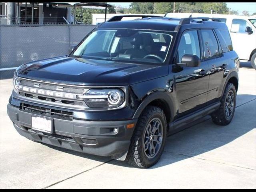
[[[23,63],[68,54],[95,25],[0,26],[0,79]],[[9,70],[8,70],[9,69]]]

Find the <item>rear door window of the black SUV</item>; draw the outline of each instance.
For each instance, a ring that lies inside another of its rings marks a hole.
[[[202,30],[204,58],[211,58],[219,55],[218,42],[212,30]]]

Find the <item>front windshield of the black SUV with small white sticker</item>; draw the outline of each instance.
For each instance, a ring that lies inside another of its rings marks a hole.
[[[96,30],[70,55],[78,58],[163,63],[170,34],[132,29]]]

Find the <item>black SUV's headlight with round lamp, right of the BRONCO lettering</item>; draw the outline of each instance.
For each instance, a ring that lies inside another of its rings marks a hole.
[[[124,103],[125,94],[120,89],[90,89],[78,98],[90,108],[117,108]]]

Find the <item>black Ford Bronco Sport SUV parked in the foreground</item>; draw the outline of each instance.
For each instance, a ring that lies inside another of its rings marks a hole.
[[[122,17],[67,56],[16,69],[7,109],[19,134],[148,168],[168,134],[206,115],[231,122],[240,61],[225,23]]]

